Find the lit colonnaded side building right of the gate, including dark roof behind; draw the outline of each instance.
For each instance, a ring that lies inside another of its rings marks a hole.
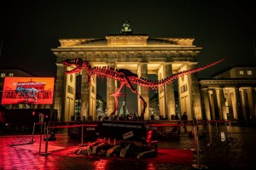
[[[201,80],[203,117],[207,120],[256,120],[256,65],[232,65]]]

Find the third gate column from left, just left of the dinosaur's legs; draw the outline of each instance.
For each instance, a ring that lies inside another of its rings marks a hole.
[[[109,67],[115,68],[114,63],[107,64]],[[116,81],[112,78],[107,78],[107,115],[110,116],[110,114],[114,111],[114,98],[111,96],[115,92]]]

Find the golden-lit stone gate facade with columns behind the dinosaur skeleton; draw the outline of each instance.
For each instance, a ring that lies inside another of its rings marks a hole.
[[[76,75],[66,75],[70,70],[62,65],[63,59],[81,58],[89,60],[92,66],[109,66],[115,69],[128,69],[138,77],[148,78],[149,74],[158,79],[169,77],[177,71],[195,68],[197,54],[201,47],[196,47],[193,38],[153,38],[144,34],[114,34],[105,38],[60,39],[61,46],[53,48],[57,57],[55,104],[61,121],[70,121],[74,114]],[[96,120],[96,81],[87,83],[87,72],[81,71],[81,116]],[[91,77],[96,78],[96,77]],[[98,87],[99,88],[99,87]],[[114,110],[114,98],[111,96],[117,88],[117,82],[107,79],[107,114]],[[189,120],[201,119],[201,101],[197,74],[186,75],[177,79],[180,111],[186,111]],[[144,119],[150,119],[148,89],[137,87],[139,94],[148,104]],[[159,88],[159,111],[164,118],[175,115],[173,84]],[[143,105],[138,99],[138,115]]]

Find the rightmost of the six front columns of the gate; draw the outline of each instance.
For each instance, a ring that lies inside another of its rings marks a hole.
[[[194,69],[195,65],[189,65],[189,69]],[[196,120],[201,120],[201,100],[200,100],[200,91],[198,85],[198,76],[197,73],[189,75],[191,79],[191,107],[192,107],[192,118]]]

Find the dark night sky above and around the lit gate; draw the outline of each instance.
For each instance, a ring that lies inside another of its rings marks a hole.
[[[202,47],[199,66],[227,58],[220,65],[201,71],[201,78],[211,77],[229,65],[256,63],[253,2],[22,0],[5,3],[0,10],[0,66],[19,66],[38,77],[55,77],[56,58],[51,48],[60,46],[59,39],[118,34],[126,18],[130,19],[135,34],[195,38],[195,45]]]

